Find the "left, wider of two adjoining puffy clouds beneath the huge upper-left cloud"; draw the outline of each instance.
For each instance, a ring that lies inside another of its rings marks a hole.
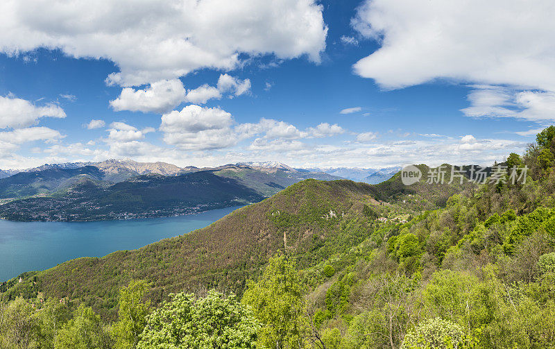
[[[112,108],[119,112],[167,112],[185,101],[185,87],[180,79],[160,80],[151,83],[144,90],[126,87],[114,101],[110,101]]]

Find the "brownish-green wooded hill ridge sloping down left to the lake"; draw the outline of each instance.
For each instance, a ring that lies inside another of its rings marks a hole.
[[[74,259],[33,278],[28,275],[3,297],[42,292],[84,301],[113,318],[117,289],[131,278],[153,283],[154,303],[172,291],[200,287],[240,294],[246,280],[278,249],[298,256],[302,266],[311,266],[364,241],[378,225],[364,213],[364,205],[379,215],[400,211],[374,199],[388,194],[395,194],[391,183],[305,180],[187,235],[102,258]]]

